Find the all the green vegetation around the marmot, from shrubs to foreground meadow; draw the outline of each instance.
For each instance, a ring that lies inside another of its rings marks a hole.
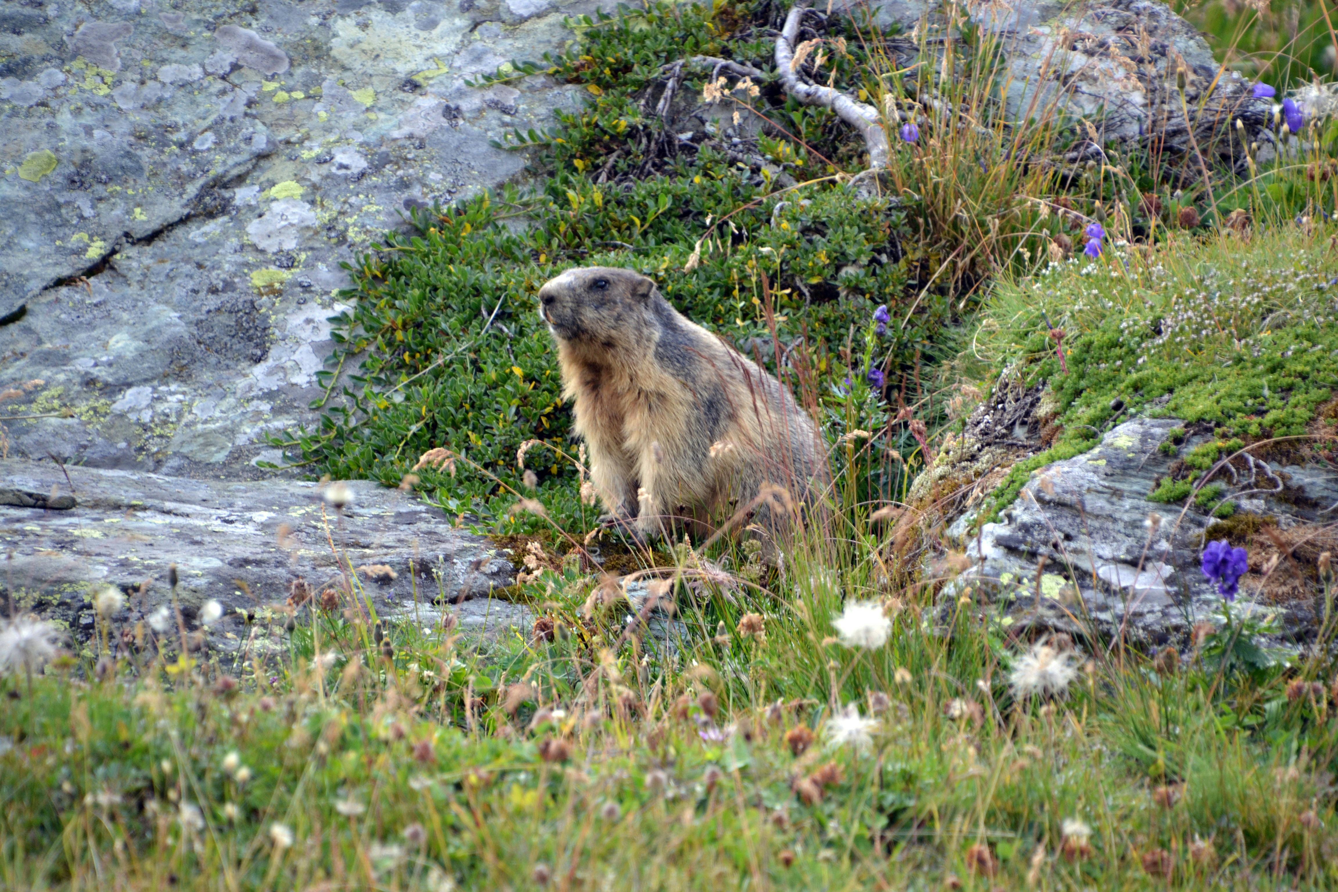
[[[1189,12],[1231,24],[1238,5]],[[1288,15],[1274,5],[1250,9]],[[1322,11],[1297,9],[1311,35]],[[977,523],[1119,413],[1212,432],[1172,436],[1181,469],[1149,496],[1227,527],[1223,456],[1293,437],[1331,464],[1338,124],[1298,108],[1284,151],[1214,169],[1211,194],[1202,158],[1112,144],[1065,166],[1088,131],[1054,110],[1004,120],[987,36],[811,16],[792,72],[884,110],[868,187],[866,142],[775,72],[785,15],[622,8],[487,79],[546,74],[589,99],[511,134],[527,182],[420,209],[359,259],[321,424],[276,436],[329,479],[332,524],[341,481],[371,477],[491,536],[520,570],[494,594],[533,625],[478,635],[417,590],[411,617],[381,615],[379,571],[333,535],[343,584],[250,592],[227,649],[202,647],[175,600],[119,623],[135,592],[115,588],[90,592],[87,641],[7,615],[0,887],[1338,884],[1327,551],[1307,641],[1240,603],[1228,528],[1195,570],[1220,622],[1137,650],[1005,622],[947,586],[967,566],[938,531],[902,523],[915,476],[1005,376],[1045,388],[1054,437]],[[1223,28],[1222,56],[1280,98],[1323,59],[1264,43],[1284,27]],[[896,63],[945,45],[953,66]],[[779,558],[601,526],[535,312],[577,265],[650,275],[814,412],[832,485]]]

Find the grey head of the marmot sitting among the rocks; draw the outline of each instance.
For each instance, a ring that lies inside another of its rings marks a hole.
[[[656,284],[626,269],[569,269],[539,289],[539,314],[562,341],[626,340],[645,332]]]

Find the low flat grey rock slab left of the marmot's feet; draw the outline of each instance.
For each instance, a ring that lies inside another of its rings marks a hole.
[[[210,627],[223,650],[253,634],[237,610],[282,606],[298,579],[313,595],[353,591],[381,617],[424,625],[439,622],[444,610],[475,631],[524,631],[533,619],[524,607],[491,596],[514,582],[504,555],[397,489],[349,484],[353,499],[337,512],[314,483],[66,471],[68,479],[50,461],[13,460],[0,471],[7,552],[0,588],[16,608],[67,622],[76,638],[92,633],[90,596],[99,586],[127,595],[112,618],[119,629],[169,603],[170,564],[178,567],[177,594],[191,630],[205,600],[223,606],[223,619]]]

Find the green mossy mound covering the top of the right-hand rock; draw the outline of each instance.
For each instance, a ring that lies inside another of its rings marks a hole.
[[[970,358],[1048,382],[1056,427],[1049,448],[1013,469],[995,510],[1032,471],[1141,412],[1215,432],[1216,443],[1184,456],[1200,473],[1264,440],[1331,457],[1335,322],[1338,254],[1309,219],[1116,247],[998,282]],[[1175,483],[1157,500],[1189,495],[1192,479]]]

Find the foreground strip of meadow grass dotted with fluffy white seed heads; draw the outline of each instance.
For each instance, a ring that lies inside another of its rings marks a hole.
[[[23,657],[36,669],[51,654],[12,626],[0,638],[0,881],[1338,879],[1329,657],[1232,662],[1239,625],[1207,633],[1184,663],[1090,642],[1029,646],[970,595],[939,614],[915,590],[887,592],[867,539],[805,551],[775,599],[668,588],[688,630],[677,657],[626,600],[605,603],[597,579],[553,571],[534,583],[547,625],[486,646],[450,625],[384,626],[356,587],[300,610],[278,654],[179,659],[166,653],[171,629],[163,654],[139,630],[132,657],[56,658],[28,677]],[[697,566],[680,555],[685,571]]]

